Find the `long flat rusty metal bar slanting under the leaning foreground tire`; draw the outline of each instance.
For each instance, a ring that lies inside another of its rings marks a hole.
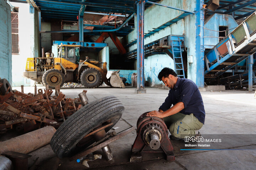
[[[100,143],[99,145],[97,145],[97,146],[95,146],[95,147],[92,147],[92,148],[90,148],[90,149],[87,149],[87,150],[84,151],[84,152],[81,152],[81,153],[79,153],[79,154],[74,155],[73,157],[69,158],[69,160],[70,160],[70,161],[76,160],[76,159],[78,159],[78,158],[83,157],[84,155],[87,155],[87,154],[89,154],[89,153],[95,152],[95,151],[97,151],[98,149],[100,149],[100,148],[102,148],[102,147],[105,147],[105,146],[107,146],[108,144],[110,144],[110,143],[112,143],[112,142],[114,142],[114,141],[120,139],[121,137],[126,136],[127,134],[129,134],[130,132],[132,132],[132,131],[134,131],[134,130],[135,130],[134,127],[128,128],[128,129],[126,129],[126,130],[123,130],[123,131],[119,132],[116,136],[114,136],[114,137],[112,137],[112,138],[106,140],[105,142],[102,142],[102,143]]]

